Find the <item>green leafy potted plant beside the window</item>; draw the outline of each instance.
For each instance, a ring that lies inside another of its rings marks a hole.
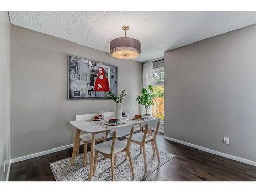
[[[136,99],[136,101],[139,102],[139,104],[141,104],[142,106],[145,107],[146,110],[146,116],[149,116],[150,114],[147,113],[148,108],[150,108],[151,105],[154,104],[154,98],[153,95],[151,94],[153,91],[153,87],[151,85],[147,86],[148,91],[145,87],[142,88],[141,90],[141,94],[138,96],[138,98]]]

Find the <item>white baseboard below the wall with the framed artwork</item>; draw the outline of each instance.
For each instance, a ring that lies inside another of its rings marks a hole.
[[[83,142],[80,143],[80,145],[82,145],[82,144],[83,144]],[[49,154],[49,153],[58,152],[58,151],[61,151],[61,150],[66,150],[66,148],[71,148],[73,146],[74,146],[74,144],[70,144],[70,145],[60,146],[60,147],[57,147],[57,148],[52,148],[51,150],[46,150],[46,151],[26,155],[26,156],[23,156],[23,157],[17,157],[17,158],[11,159],[10,164],[11,163],[16,163],[16,162],[19,162],[19,161],[24,161],[26,159],[31,159],[31,158],[34,158],[34,157],[38,157],[38,156],[41,156],[41,155],[46,155],[46,154]]]

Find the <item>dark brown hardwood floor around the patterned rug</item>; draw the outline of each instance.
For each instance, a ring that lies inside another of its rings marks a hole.
[[[158,147],[176,155],[143,181],[256,181],[256,167],[196,150],[157,136]],[[83,147],[80,147],[83,153]],[[11,164],[9,181],[55,181],[49,163],[72,154],[72,148]]]

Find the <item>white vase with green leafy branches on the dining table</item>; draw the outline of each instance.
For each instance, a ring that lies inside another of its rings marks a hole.
[[[121,102],[125,96],[125,90],[122,90],[121,93],[118,95],[115,95],[112,93],[112,91],[108,93],[103,93],[103,96],[106,100],[112,100],[116,103],[116,118],[121,119],[122,118],[122,105]]]

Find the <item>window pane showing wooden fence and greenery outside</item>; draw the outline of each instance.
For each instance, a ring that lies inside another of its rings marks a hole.
[[[153,69],[152,86],[154,95],[154,105],[152,106],[152,115],[164,120],[164,67]]]

